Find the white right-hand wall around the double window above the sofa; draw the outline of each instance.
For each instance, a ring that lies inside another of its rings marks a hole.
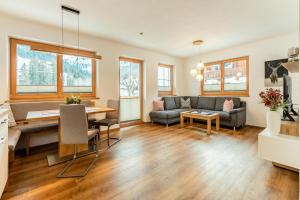
[[[264,63],[267,60],[275,60],[287,57],[287,50],[290,47],[298,46],[298,33],[290,33],[282,36],[268,38],[212,53],[194,56],[186,59],[184,70],[186,80],[185,95],[198,95],[200,84],[191,78],[189,71],[200,58],[203,62],[218,61],[222,59],[249,56],[250,64],[250,97],[243,97],[247,102],[247,124],[262,126],[266,125],[265,108],[259,104],[258,94],[264,90]],[[299,101],[299,73],[293,74],[293,99]]]

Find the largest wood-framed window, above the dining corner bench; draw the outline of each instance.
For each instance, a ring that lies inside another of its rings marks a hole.
[[[10,98],[96,97],[95,53],[10,39]]]

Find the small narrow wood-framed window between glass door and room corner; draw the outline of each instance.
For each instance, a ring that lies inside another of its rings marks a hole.
[[[158,65],[158,95],[173,95],[173,65]]]

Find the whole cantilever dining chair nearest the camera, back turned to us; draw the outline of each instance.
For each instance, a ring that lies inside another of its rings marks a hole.
[[[98,159],[98,129],[88,129],[88,118],[84,105],[60,105],[60,140],[61,144],[74,145],[73,159],[67,163],[64,169],[57,175],[58,178],[72,178],[85,176]],[[77,158],[90,155],[77,155],[77,145],[86,144],[93,140],[95,158],[83,171],[83,173],[66,175],[66,171],[72,166]]]

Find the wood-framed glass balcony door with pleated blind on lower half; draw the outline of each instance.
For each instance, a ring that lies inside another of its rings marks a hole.
[[[143,61],[121,57],[120,66],[120,121],[142,121]]]

